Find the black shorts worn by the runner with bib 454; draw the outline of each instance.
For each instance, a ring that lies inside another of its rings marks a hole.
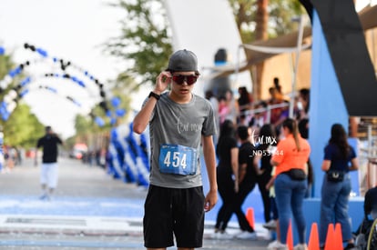
[[[196,248],[203,245],[203,187],[167,188],[150,185],[144,204],[144,246]],[[173,235],[174,234],[174,235]]]

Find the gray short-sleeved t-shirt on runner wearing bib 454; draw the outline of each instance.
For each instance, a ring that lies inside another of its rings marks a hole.
[[[200,173],[201,135],[216,134],[215,116],[209,101],[192,95],[189,104],[177,104],[161,95],[149,121],[151,170],[150,184],[170,188],[202,185]],[[160,167],[161,166],[161,167]],[[164,167],[162,167],[164,166]],[[161,170],[191,170],[171,174]]]

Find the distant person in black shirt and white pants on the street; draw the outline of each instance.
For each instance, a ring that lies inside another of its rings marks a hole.
[[[53,132],[51,126],[46,126],[45,130],[46,135],[39,138],[36,143],[35,165],[38,165],[38,148],[43,147],[42,165],[40,170],[40,183],[43,194],[40,196],[40,199],[50,200],[57,185],[58,145],[63,145],[63,141]]]

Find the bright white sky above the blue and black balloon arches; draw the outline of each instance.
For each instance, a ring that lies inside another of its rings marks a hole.
[[[87,70],[106,85],[116,78],[125,65],[114,57],[103,53],[103,44],[119,35],[119,21],[123,10],[108,6],[114,0],[1,0],[0,1],[0,45],[6,52],[13,52],[16,64],[36,60],[40,56],[23,48],[25,43],[43,48],[50,56],[69,60]],[[357,9],[370,1],[358,0]],[[56,72],[56,65],[48,61],[25,69],[35,79],[24,101],[44,125],[52,125],[63,137],[75,134],[76,114],[87,114],[99,96],[97,86],[87,80],[86,88],[66,80],[40,77]],[[80,71],[71,74],[82,79]],[[59,95],[37,90],[38,85],[50,85]],[[148,92],[147,90],[143,90]],[[143,95],[146,95],[143,92]],[[82,104],[79,108],[66,101],[70,95]],[[148,94],[147,94],[148,95]],[[140,95],[141,96],[141,95]],[[140,100],[135,98],[133,108],[138,109]]]

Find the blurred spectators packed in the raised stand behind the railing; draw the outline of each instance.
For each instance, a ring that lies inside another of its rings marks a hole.
[[[282,122],[290,116],[290,97],[283,94],[278,77],[273,79],[267,99],[254,100],[246,86],[240,86],[238,94],[235,97],[230,89],[219,96],[211,90],[206,92],[206,98],[215,109],[219,127],[225,120],[231,120],[235,125],[246,125],[258,132],[262,125],[270,124],[280,134]],[[308,138],[309,104],[310,90],[300,89],[294,99],[293,118],[298,121],[304,138]]]

